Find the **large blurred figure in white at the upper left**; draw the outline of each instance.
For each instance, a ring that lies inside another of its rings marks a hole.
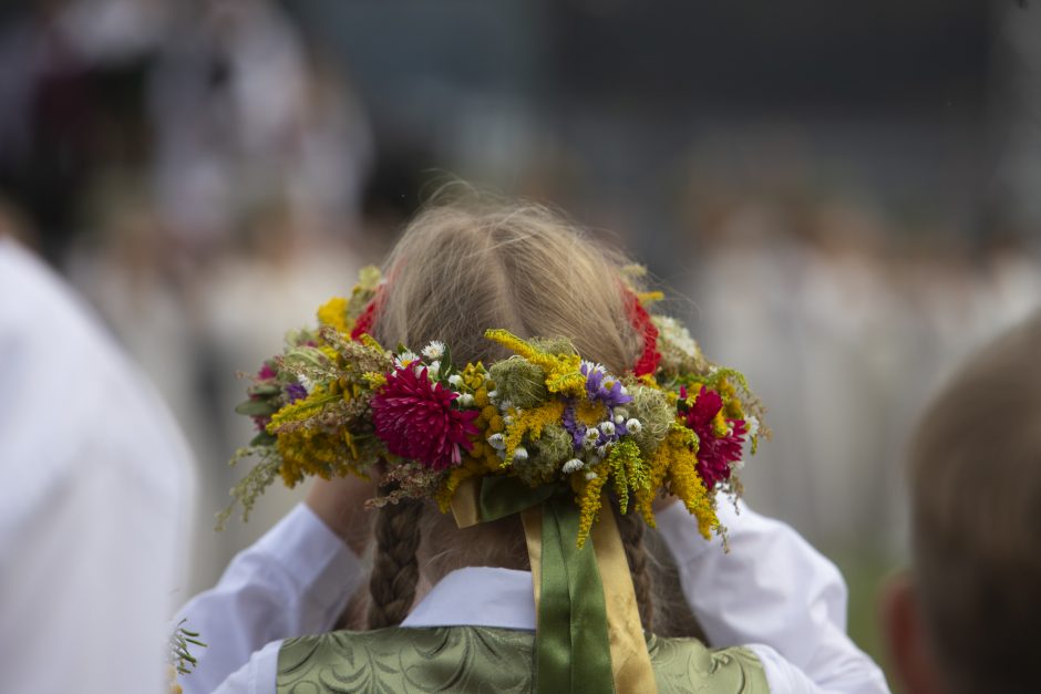
[[[358,224],[372,138],[361,100],[270,0],[177,3],[148,79],[162,217],[202,253],[243,207],[286,196],[322,237]]]

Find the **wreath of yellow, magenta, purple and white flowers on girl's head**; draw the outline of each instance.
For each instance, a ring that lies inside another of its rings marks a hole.
[[[259,434],[231,459],[260,459],[231,490],[244,518],[278,476],[292,487],[308,475],[364,477],[385,462],[392,490],[374,506],[434,499],[447,511],[467,479],[509,476],[574,494],[578,547],[607,489],[621,512],[635,508],[651,526],[667,490],[707,539],[723,532],[717,493],[740,494],[735,472],[764,433],[762,407],[741,373],[707,361],[673,319],[648,313],[660,293],[626,290],[643,351],[619,375],[567,340],[497,329],[485,336],[514,355],[488,366],[455,364],[451,345],[436,341],[390,352],[369,334],[383,288],[379,270],[362,270],[350,298],[319,308],[318,329],[290,333],[254,376],[236,411]]]

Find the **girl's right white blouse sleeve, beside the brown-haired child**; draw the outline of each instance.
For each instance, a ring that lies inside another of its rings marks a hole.
[[[658,515],[683,594],[711,645],[774,650],[780,657],[756,654],[767,679],[772,671],[777,683],[795,687],[779,684],[779,691],[888,694],[882,670],[846,635],[846,586],[838,569],[792,528],[744,503],[735,511],[720,498],[719,515],[730,552],[719,538],[701,538],[682,504]],[[796,684],[802,673],[814,688]]]

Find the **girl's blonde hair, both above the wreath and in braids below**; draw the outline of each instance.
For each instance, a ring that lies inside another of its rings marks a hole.
[[[451,345],[456,364],[507,356],[484,338],[504,328],[523,338],[566,338],[615,373],[631,370],[642,339],[630,323],[623,256],[545,207],[478,199],[440,203],[408,226],[386,261],[374,336],[386,345]],[[468,531],[429,516],[422,505],[386,506],[377,520],[369,628],[398,624],[415,598],[420,528],[429,570],[440,578],[467,563],[527,567],[517,518]],[[652,600],[642,521],[619,518],[645,625]],[[494,540],[497,541],[493,541]],[[492,548],[494,551],[491,551]],[[477,556],[484,552],[484,556]],[[494,556],[493,556],[494,555]]]

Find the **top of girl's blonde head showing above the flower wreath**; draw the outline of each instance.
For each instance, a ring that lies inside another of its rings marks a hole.
[[[627,318],[623,259],[536,205],[431,207],[386,262],[389,288],[375,338],[394,345],[441,340],[453,361],[506,356],[484,338],[567,338],[617,373],[632,367],[640,338]]]

